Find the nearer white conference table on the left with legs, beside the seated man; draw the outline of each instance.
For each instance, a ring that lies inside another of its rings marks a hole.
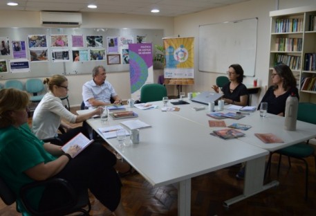
[[[264,170],[268,151],[236,139],[224,141],[216,138],[210,135],[210,127],[192,123],[170,111],[129,109],[135,111],[139,117],[122,120],[112,120],[110,117],[106,124],[101,123],[98,118],[91,118],[87,123],[100,136],[102,134],[98,128],[118,125],[124,120],[139,119],[151,125],[140,129],[139,144],[120,148],[116,138],[105,140],[151,185],[179,183],[178,215],[191,213],[192,177],[237,163],[248,162],[241,197],[248,197],[262,190],[263,174],[258,174],[256,170]],[[77,112],[83,114],[86,111],[89,110]]]

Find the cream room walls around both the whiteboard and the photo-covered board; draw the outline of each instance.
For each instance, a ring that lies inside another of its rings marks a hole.
[[[277,4],[277,2],[279,2]],[[219,74],[204,73],[198,71],[198,26],[202,24],[214,24],[223,21],[234,21],[238,19],[248,19],[258,17],[258,37],[257,37],[257,62],[255,77],[263,87],[261,96],[252,98],[255,105],[263,96],[264,87],[268,84],[268,65],[270,47],[270,17],[271,10],[294,8],[299,6],[315,6],[316,0],[251,0],[238,3],[232,6],[215,8],[196,12],[191,15],[184,15],[176,18],[156,17],[156,16],[133,16],[133,15],[111,15],[103,13],[83,13],[82,28],[158,28],[164,29],[164,36],[180,35],[181,37],[195,37],[195,84],[184,87],[184,91],[211,90],[212,84]],[[41,27],[39,24],[39,12],[23,11],[0,11],[0,27]],[[227,66],[238,62],[227,62]],[[115,90],[122,98],[130,97],[129,71],[111,73],[108,71],[108,80],[113,84]],[[90,80],[91,75],[71,75],[69,80],[69,98],[71,106],[80,105],[82,101],[82,84]],[[252,84],[253,77],[245,78],[245,84]],[[4,82],[5,80],[0,80]],[[22,80],[25,81],[25,80]],[[169,89],[168,89],[169,90]],[[171,89],[172,91],[173,89]],[[173,92],[169,94],[174,94]]]

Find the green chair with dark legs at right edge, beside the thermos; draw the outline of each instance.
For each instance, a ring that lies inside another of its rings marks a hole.
[[[316,116],[313,113],[316,110],[316,104],[309,103],[309,102],[299,102],[299,109],[297,111],[297,120],[304,121],[306,123],[312,123],[316,125]],[[305,160],[308,156],[314,156],[315,159],[315,168],[316,168],[316,155],[314,154],[314,148],[308,145],[308,141],[306,143],[298,143],[295,145],[291,145],[288,147],[284,147],[281,150],[277,150],[275,152],[271,152],[267,167],[270,169],[271,166],[271,157],[272,154],[277,153],[279,154],[279,164],[277,168],[277,174],[279,175],[280,164],[281,164],[281,156],[288,156],[288,163],[290,164],[290,158],[299,159],[304,161],[306,170],[305,170],[305,199],[308,199],[308,163]]]

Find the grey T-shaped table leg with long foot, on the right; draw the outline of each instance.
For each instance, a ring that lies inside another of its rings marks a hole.
[[[261,156],[260,158],[247,161],[245,166],[243,195],[224,201],[223,206],[229,208],[230,205],[238,201],[251,197],[263,190],[278,186],[279,181],[271,181],[270,183],[263,185],[265,165],[266,156]]]

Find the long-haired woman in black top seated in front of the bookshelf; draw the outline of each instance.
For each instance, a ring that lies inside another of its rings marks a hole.
[[[272,86],[269,87],[261,102],[268,102],[268,113],[284,116],[286,99],[294,94],[299,99],[296,79],[286,64],[278,64],[272,71]],[[260,108],[260,105],[258,109]]]

